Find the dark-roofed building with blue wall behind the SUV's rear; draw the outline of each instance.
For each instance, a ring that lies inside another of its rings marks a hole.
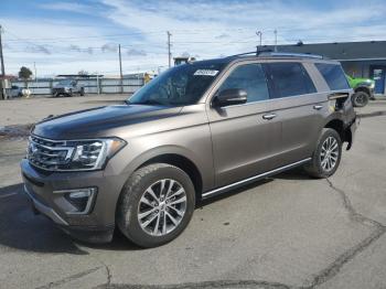
[[[274,46],[265,46],[274,51]],[[342,63],[346,74],[375,81],[375,94],[386,94],[386,41],[278,45],[278,52],[311,53]]]

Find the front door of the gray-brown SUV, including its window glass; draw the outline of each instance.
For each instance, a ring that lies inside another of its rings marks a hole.
[[[207,110],[217,186],[274,169],[281,135],[280,122],[269,118],[269,92],[260,64],[234,66],[217,93],[230,88],[244,89],[247,103]]]

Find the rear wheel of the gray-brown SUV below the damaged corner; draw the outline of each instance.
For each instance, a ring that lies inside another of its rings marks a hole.
[[[323,154],[325,156],[325,149],[332,152],[328,154],[329,160],[323,162],[325,160],[325,157],[323,157]],[[326,179],[337,170],[341,157],[342,140],[340,135],[332,128],[323,128],[317,148],[312,153],[312,160],[304,165],[305,172],[313,178]]]

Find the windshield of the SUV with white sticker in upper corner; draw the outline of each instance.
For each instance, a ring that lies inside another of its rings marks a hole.
[[[184,64],[168,69],[135,93],[128,104],[185,106],[199,101],[224,63]]]

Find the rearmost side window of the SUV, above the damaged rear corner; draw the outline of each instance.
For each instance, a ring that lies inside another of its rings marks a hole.
[[[318,71],[322,74],[331,90],[350,88],[346,76],[339,64],[315,63]]]

